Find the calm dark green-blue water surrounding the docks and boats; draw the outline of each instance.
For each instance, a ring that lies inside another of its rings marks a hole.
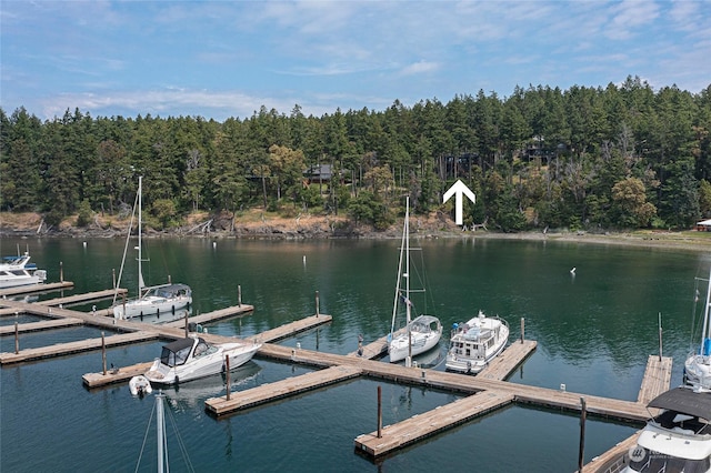
[[[108,289],[119,273],[122,240],[0,240],[2,254],[24,250],[46,268],[50,281],[64,279],[80,293]],[[192,286],[193,313],[242,301],[256,311],[209,325],[211,333],[250,335],[320,311],[333,322],[283,341],[289,346],[346,354],[382,336],[390,326],[398,241],[150,240],[149,283],[168,279]],[[707,253],[579,245],[557,242],[421,240],[429,282],[427,305],[447,328],[479,309],[507,319],[512,339],[538,340],[534,354],[511,382],[635,400],[649,354],[658,353],[658,314],[664,355],[674,358],[672,385],[690,346],[695,278],[707,278]],[[418,256],[419,258],[419,256]],[[122,286],[136,291],[134,262]],[[577,268],[574,276],[570,269]],[[702,285],[702,292],[705,286]],[[417,302],[417,301],[415,301]],[[106,306],[107,303],[98,304]],[[90,306],[79,308],[90,310]],[[699,311],[700,308],[697,308]],[[0,318],[0,324],[14,323]],[[20,322],[38,319],[21,315]],[[23,335],[21,348],[100,336],[91,328]],[[0,351],[12,351],[12,338]],[[440,354],[445,351],[440,345]],[[109,350],[108,362],[149,361],[160,343]],[[439,364],[438,353],[428,356]],[[81,375],[101,370],[101,354],[87,353],[0,370],[0,470],[134,471],[153,409],[153,397],[133,399],[126,384],[88,391]],[[254,359],[232,376],[233,390],[271,383],[309,370]],[[353,451],[353,439],[377,429],[377,389],[382,388],[383,424],[457,399],[453,394],[359,379],[268,404],[224,420],[203,411],[206,399],[223,394],[221,378],[168,390],[168,439],[172,471],[186,471],[179,439],[196,471],[431,472],[467,467],[481,472],[572,472],[578,463],[579,419],[545,410],[510,406],[419,443],[373,464]],[[174,424],[174,429],[173,429]],[[154,427],[154,422],[153,425]],[[589,417],[589,461],[637,430]],[[139,471],[154,471],[154,430]]]

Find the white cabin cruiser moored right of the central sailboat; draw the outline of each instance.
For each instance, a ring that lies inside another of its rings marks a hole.
[[[447,353],[449,371],[477,374],[503,351],[509,341],[509,324],[482,311],[467,323],[454,324]]]

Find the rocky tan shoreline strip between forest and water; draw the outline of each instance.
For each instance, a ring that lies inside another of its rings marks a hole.
[[[57,228],[47,227],[40,214],[0,212],[0,236],[40,238],[123,238],[129,220],[117,220],[97,215],[86,227],[77,227],[76,218],[64,220]],[[234,219],[227,215],[196,213],[183,224],[169,230],[154,230],[148,225],[148,238],[243,238],[243,239],[395,239],[400,238],[402,222],[395,222],[387,230],[375,230],[371,225],[357,225],[346,217],[297,215],[284,218],[251,211]],[[433,212],[417,215],[411,220],[411,234],[415,238],[477,238],[508,240],[568,241],[577,243],[623,244],[661,249],[711,251],[711,232],[699,231],[651,231],[634,232],[570,232],[531,231],[501,233],[492,229],[463,230],[449,215]]]

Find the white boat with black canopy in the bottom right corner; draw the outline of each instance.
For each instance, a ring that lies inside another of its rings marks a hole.
[[[711,393],[675,388],[648,407],[662,411],[628,452],[623,473],[711,472]]]

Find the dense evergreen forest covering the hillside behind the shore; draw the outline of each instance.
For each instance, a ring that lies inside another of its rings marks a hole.
[[[465,224],[489,229],[689,228],[711,217],[711,85],[653,90],[517,88],[383,111],[306,117],[264,107],[220,123],[201,117],[41,121],[0,108],[0,208],[49,224],[126,214],[143,175],[143,209],[169,228],[193,211],[346,214],[385,228],[411,195],[415,212],[452,212],[443,193],[475,194]]]

